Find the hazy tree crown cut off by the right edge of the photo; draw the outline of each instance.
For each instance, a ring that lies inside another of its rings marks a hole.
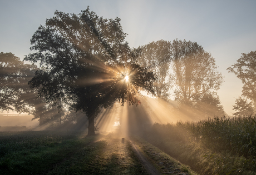
[[[228,71],[242,80],[244,84],[242,95],[256,102],[256,51],[242,53],[237,63],[229,67]]]

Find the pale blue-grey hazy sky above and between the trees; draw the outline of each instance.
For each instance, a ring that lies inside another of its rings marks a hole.
[[[218,94],[228,114],[242,83],[226,70],[241,53],[256,50],[256,1],[65,1],[0,0],[0,52],[23,59],[30,39],[55,10],[80,13],[90,10],[104,18],[121,18],[130,47],[164,39],[197,42],[216,59],[225,76]]]

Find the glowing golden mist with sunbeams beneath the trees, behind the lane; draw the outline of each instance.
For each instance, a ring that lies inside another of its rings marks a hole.
[[[202,108],[209,109],[208,113],[204,113],[199,109],[181,106],[174,101],[166,102],[142,94],[139,99],[141,103],[137,106],[129,106],[127,103],[121,106],[115,103],[111,108],[102,109],[95,122],[99,133],[118,133],[122,137],[127,137],[130,134],[146,133],[155,123],[198,122],[218,116],[219,113],[214,110],[214,106],[201,105]]]

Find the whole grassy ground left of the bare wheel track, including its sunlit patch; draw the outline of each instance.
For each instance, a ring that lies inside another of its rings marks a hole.
[[[0,132],[0,174],[147,174],[131,144],[78,132]]]

